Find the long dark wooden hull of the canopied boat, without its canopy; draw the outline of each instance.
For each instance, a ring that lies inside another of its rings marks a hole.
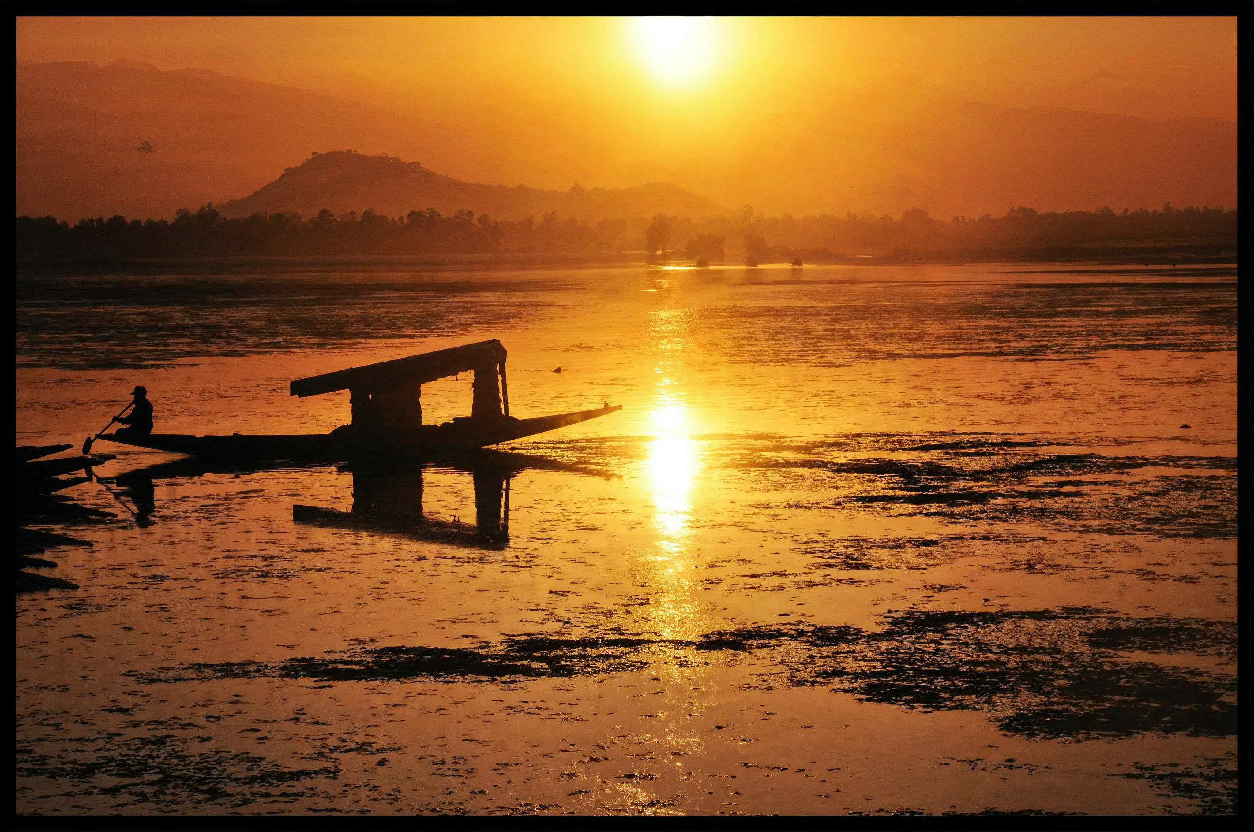
[[[150,434],[128,436],[104,434],[103,440],[148,447],[171,454],[186,454],[218,462],[228,461],[292,461],[292,462],[352,462],[357,460],[386,460],[401,457],[440,459],[466,451],[499,445],[535,434],[576,425],[622,410],[621,405],[597,410],[581,410],[534,419],[502,419],[484,422],[474,419],[454,419],[443,425],[424,425],[416,431],[401,435],[362,435],[351,426],[330,434],[288,434],[193,436],[191,434]]]

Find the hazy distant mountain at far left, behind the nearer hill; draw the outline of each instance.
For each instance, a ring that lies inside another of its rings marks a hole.
[[[203,69],[18,64],[15,90],[28,214],[172,217],[251,193],[316,148],[439,159],[475,147],[418,117]]]

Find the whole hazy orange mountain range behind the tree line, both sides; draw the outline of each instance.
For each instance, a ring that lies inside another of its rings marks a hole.
[[[528,169],[528,159],[552,165],[554,148],[572,137],[440,124],[419,115],[420,100],[413,113],[400,114],[305,89],[202,69],[161,71],[129,60],[18,64],[15,91],[16,213],[70,222],[112,214],[168,218],[208,202],[232,214],[296,211],[307,217],[321,208],[374,208],[396,216],[431,207],[537,221],[547,211],[586,221],[703,216],[719,211],[715,203],[736,208],[742,202],[796,214],[895,216],[920,207],[942,218],[1001,216],[1011,205],[1236,204],[1234,122],[1014,109],[928,98],[917,89],[841,93],[764,114],[762,140],[729,138],[686,159],[652,159],[627,142],[604,159],[606,170],[627,169],[630,160],[641,178],[676,184],[571,190],[473,184],[435,173],[470,179],[475,159],[504,155],[519,170]],[[310,155],[340,148],[356,153]],[[308,160],[297,164],[301,159]],[[672,173],[661,173],[663,164]],[[656,177],[648,173],[655,168]]]

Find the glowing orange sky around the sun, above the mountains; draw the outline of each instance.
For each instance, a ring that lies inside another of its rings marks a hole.
[[[19,61],[203,68],[420,117],[474,137],[421,159],[463,179],[665,179],[799,212],[877,208],[836,204],[816,169],[863,169],[850,199],[874,202],[867,169],[899,173],[905,133],[925,145],[918,113],[966,101],[1236,118],[1235,18],[719,19],[670,53],[606,18],[21,18],[16,33]]]

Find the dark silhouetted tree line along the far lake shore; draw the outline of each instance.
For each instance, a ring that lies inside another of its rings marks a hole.
[[[179,211],[172,221],[103,217],[74,226],[54,217],[16,218],[19,262],[55,259],[144,259],[166,257],[643,253],[650,259],[750,262],[767,258],[836,259],[859,256],[935,257],[1023,253],[1062,248],[1139,244],[1234,246],[1236,211],[1068,211],[1038,213],[1011,208],[1003,217],[939,221],[913,208],[900,217],[846,213],[765,217],[745,205],[701,219],[653,217],[597,222],[556,212],[539,221],[493,219],[459,211],[411,211],[386,217],[374,211],[311,219],[293,213],[228,218],[212,204]]]

